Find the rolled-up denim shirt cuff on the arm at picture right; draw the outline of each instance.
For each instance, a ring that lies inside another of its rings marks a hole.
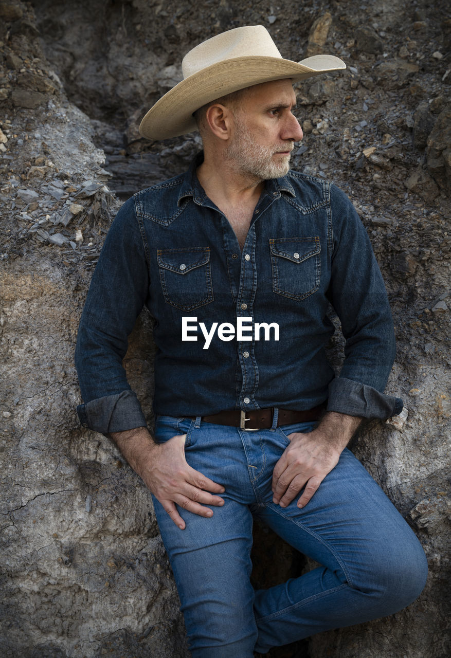
[[[385,420],[400,414],[403,406],[400,397],[385,395],[372,386],[345,377],[336,377],[329,384],[327,411]]]

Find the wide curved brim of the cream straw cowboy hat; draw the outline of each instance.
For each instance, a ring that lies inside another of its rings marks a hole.
[[[211,64],[179,82],[144,116],[140,134],[147,139],[167,139],[197,130],[192,116],[199,107],[262,82],[292,78],[306,80],[321,73],[346,68],[334,55],[313,55],[301,62],[279,57],[235,57]]]

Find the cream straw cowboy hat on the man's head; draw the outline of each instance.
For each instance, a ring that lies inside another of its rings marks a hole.
[[[342,68],[346,64],[333,55],[314,55],[301,62],[283,59],[263,25],[228,30],[185,55],[182,82],[149,109],[140,133],[149,139],[184,135],[197,130],[192,114],[199,107],[232,91],[281,78],[298,82]]]

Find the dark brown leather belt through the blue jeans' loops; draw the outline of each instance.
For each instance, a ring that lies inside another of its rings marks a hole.
[[[325,404],[307,409],[306,411],[294,411],[292,409],[279,409],[277,417],[277,427],[279,425],[291,425],[295,422],[308,422],[318,420],[325,410]],[[191,420],[196,420],[194,416],[187,416]],[[253,409],[252,411],[240,411],[240,409],[231,409],[230,411],[219,411],[212,416],[202,416],[205,422],[213,422],[217,425],[230,425],[239,427],[242,430],[269,430],[273,426],[274,409]]]

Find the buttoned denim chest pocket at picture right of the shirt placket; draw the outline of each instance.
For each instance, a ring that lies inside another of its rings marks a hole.
[[[313,295],[321,278],[319,237],[269,240],[273,292],[301,301]]]

